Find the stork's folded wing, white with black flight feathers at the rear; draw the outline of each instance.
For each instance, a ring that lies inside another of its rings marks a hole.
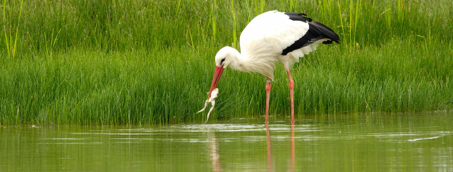
[[[318,40],[339,43],[327,26],[301,13],[268,11],[256,16],[241,33],[241,53],[248,57],[286,55]]]

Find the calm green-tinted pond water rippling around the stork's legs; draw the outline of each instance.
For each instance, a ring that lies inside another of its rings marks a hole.
[[[453,114],[3,127],[0,171],[453,171]]]

